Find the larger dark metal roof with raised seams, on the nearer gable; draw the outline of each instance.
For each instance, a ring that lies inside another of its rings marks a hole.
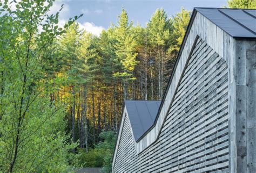
[[[233,38],[256,38],[256,9],[195,8]]]

